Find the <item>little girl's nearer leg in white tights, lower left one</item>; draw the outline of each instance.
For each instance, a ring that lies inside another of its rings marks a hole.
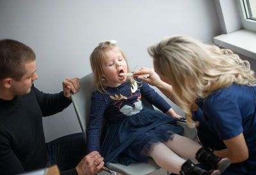
[[[159,167],[169,172],[179,174],[182,164],[186,162],[179,155],[174,153],[165,144],[159,143],[152,148],[150,156],[154,159]]]

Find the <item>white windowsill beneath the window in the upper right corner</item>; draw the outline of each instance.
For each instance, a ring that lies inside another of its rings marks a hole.
[[[213,42],[238,54],[256,59],[256,32],[241,29],[215,36]]]

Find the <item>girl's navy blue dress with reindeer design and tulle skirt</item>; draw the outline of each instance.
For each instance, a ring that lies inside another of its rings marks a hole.
[[[99,151],[105,162],[147,162],[152,145],[172,139],[182,133],[177,119],[162,112],[171,106],[147,83],[126,81],[116,88],[106,88],[108,94],[92,94],[90,121],[86,134],[88,153]],[[141,95],[162,112],[146,109]],[[104,141],[100,146],[102,119],[107,119]]]

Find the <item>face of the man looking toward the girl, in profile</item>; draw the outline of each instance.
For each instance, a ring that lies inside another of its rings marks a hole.
[[[14,96],[25,95],[31,91],[34,80],[38,79],[36,75],[36,61],[24,63],[25,75],[19,81],[13,80],[10,90]]]

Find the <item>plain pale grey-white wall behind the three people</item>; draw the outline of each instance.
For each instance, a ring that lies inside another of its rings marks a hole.
[[[148,45],[172,34],[211,42],[220,34],[213,0],[0,0],[0,38],[35,50],[35,86],[49,93],[61,91],[67,77],[90,73],[90,53],[102,40],[117,40],[138,70],[152,67]],[[72,105],[44,119],[44,129],[47,141],[81,132]]]

